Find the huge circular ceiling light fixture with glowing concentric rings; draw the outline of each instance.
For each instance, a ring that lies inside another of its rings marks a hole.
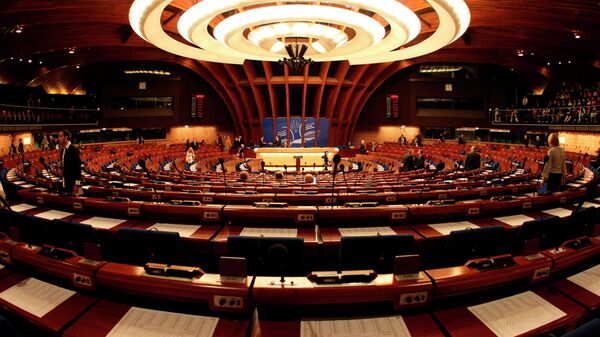
[[[398,0],[203,0],[181,15],[177,30],[183,39],[172,38],[162,25],[172,0],[135,0],[129,22],[158,48],[203,61],[275,62],[287,45],[305,45],[317,62],[368,64],[429,54],[465,32],[471,15],[464,0],[426,1],[437,14],[437,29],[413,44],[421,22]]]

